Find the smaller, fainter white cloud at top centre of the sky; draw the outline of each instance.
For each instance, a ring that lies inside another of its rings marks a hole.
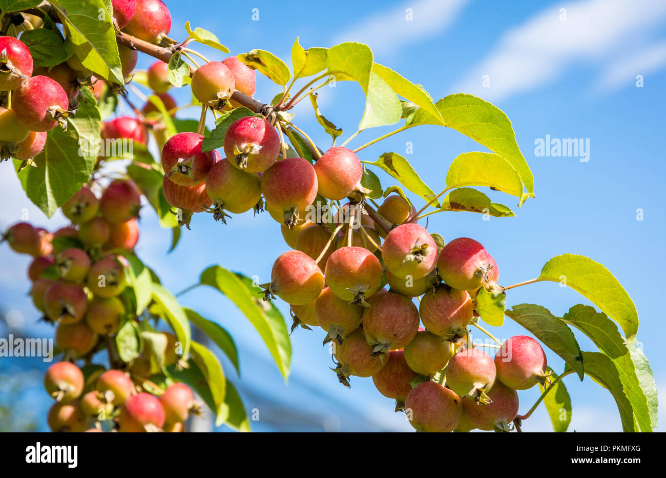
[[[366,43],[375,53],[387,53],[407,43],[440,35],[469,0],[420,0],[404,3],[390,11],[368,17],[333,40]],[[412,19],[407,15],[411,11]]]

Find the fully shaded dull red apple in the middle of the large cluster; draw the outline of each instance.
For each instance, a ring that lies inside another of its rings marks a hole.
[[[412,299],[387,292],[370,297],[368,303],[370,307],[363,312],[363,331],[373,355],[401,349],[414,340],[419,317]]]

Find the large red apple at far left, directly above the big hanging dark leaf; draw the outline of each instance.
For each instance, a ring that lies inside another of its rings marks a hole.
[[[67,125],[67,93],[57,81],[43,76],[31,77],[14,91],[11,105],[17,121],[31,131],[49,131],[58,123]]]

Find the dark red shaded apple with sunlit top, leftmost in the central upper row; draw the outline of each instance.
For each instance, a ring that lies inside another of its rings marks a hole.
[[[194,186],[206,181],[206,175],[215,162],[212,151],[201,151],[203,137],[197,133],[178,133],[162,149],[162,170],[174,183]]]

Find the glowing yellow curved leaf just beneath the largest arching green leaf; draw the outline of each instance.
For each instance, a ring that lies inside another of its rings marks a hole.
[[[513,166],[495,153],[462,153],[446,173],[446,189],[487,186],[496,191],[522,197],[523,183]]]

